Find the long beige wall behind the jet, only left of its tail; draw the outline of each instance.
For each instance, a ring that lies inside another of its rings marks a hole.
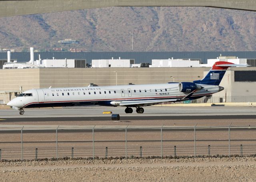
[[[184,82],[203,78],[209,68],[32,68],[0,70],[0,91],[32,88],[77,87]],[[117,72],[117,80],[116,80]],[[13,95],[14,96],[14,95]],[[12,97],[13,97],[12,96]],[[6,96],[8,102],[9,95]],[[4,95],[0,95],[4,100]]]

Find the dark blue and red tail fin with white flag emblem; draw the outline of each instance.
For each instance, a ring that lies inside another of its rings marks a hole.
[[[234,63],[229,63],[226,61],[218,61],[214,63],[210,71],[206,74],[206,76],[202,80],[193,81],[196,84],[206,84],[206,85],[219,85],[226,70],[229,67],[236,66],[248,66],[248,65],[235,65]]]

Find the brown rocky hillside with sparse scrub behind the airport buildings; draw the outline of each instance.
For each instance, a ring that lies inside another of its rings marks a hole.
[[[84,51],[255,51],[256,12],[110,7],[0,18],[0,45]],[[62,39],[78,44],[63,45]]]

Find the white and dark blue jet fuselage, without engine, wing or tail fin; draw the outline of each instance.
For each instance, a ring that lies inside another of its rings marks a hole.
[[[179,92],[179,83],[93,86],[70,88],[42,88],[23,92],[8,105],[16,108],[44,108],[56,106],[119,106],[121,101],[182,99],[189,93]],[[219,92],[219,86],[202,85],[190,100]],[[169,101],[168,101],[169,102]],[[148,106],[152,104],[140,104]],[[131,105],[132,106],[132,105]],[[133,106],[136,107],[136,106]]]

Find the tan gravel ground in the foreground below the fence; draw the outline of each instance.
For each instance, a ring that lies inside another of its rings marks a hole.
[[[0,181],[255,181],[256,158],[0,162]]]

